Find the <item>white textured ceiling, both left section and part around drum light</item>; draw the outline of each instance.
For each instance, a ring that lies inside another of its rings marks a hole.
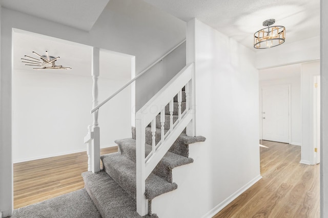
[[[144,0],[184,21],[193,17],[253,51],[266,19],[285,26],[287,43],[320,35],[320,0]],[[2,7],[89,31],[109,0],[0,0]],[[165,22],[165,20],[163,20]],[[279,46],[279,49],[283,45]]]

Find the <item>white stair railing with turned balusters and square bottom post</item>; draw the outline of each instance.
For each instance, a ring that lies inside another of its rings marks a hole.
[[[194,63],[184,67],[167,85],[136,113],[136,202],[137,212],[143,216],[148,213],[148,200],[145,197],[146,179],[157,163],[168,152],[181,132],[189,126],[194,129],[193,84]],[[186,110],[181,112],[182,87],[185,87]],[[173,123],[173,98],[178,95],[178,119]],[[169,104],[170,129],[165,133],[165,107]],[[156,116],[160,114],[161,140],[155,144]],[[151,123],[152,152],[145,156],[146,131]],[[191,126],[190,126],[191,124]],[[187,133],[190,132],[187,130]],[[193,132],[193,131],[192,131]],[[191,135],[194,136],[194,135]]]

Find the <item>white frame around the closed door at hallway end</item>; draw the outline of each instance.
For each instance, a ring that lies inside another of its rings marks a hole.
[[[259,94],[259,125],[260,125],[260,140],[263,140],[263,119],[262,119],[262,90],[263,88],[273,88],[273,87],[288,87],[288,143],[290,144],[292,142],[292,128],[291,128],[291,117],[292,117],[292,111],[291,111],[291,84],[279,84],[279,85],[270,85],[270,86],[260,86],[260,94]]]

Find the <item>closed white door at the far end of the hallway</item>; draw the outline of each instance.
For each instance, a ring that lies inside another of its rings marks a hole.
[[[262,138],[289,143],[289,86],[262,88]]]

